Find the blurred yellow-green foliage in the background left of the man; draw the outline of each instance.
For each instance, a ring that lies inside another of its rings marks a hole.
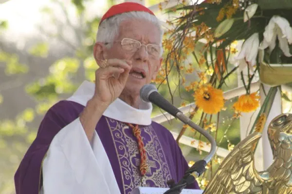
[[[37,42],[27,50],[27,55],[47,58],[51,49],[49,41],[54,39],[65,43],[67,48],[73,49],[74,55],[56,60],[50,66],[47,76],[24,86],[26,93],[37,102],[35,107],[27,107],[15,119],[0,121],[0,194],[14,194],[15,192],[13,176],[28,147],[36,138],[37,127],[34,128],[36,125],[32,125],[32,123],[37,115],[42,117],[64,95],[73,94],[81,80],[94,80],[97,65],[92,57],[92,49],[100,18],[98,16],[91,19],[86,17],[85,4],[87,1],[89,0],[71,1],[71,7],[75,9],[75,18],[77,18],[77,24],[74,23],[74,25],[69,19],[68,9],[62,0],[52,0],[51,2],[62,10],[62,14],[67,18],[65,23],[60,21],[59,16],[55,15],[55,10],[51,7],[44,7],[40,10],[43,16],[51,18],[51,24],[56,28],[69,29],[76,42],[67,39],[66,34],[60,32],[52,34],[40,28],[40,32],[48,36],[48,42]],[[114,3],[113,0],[108,0],[109,5],[112,3]],[[0,20],[0,32],[4,32],[9,27],[8,24],[9,20]],[[31,71],[30,64],[21,64],[17,54],[4,52],[2,49],[0,49],[0,64],[4,65],[1,67],[4,67],[6,76],[18,76]],[[21,100],[21,98],[19,99]],[[8,101],[3,98],[0,89],[0,103],[5,103],[6,100]]]

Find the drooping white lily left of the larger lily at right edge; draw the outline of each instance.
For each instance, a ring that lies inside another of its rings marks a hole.
[[[247,65],[253,71],[253,67],[256,65],[258,46],[258,33],[254,33],[243,43],[239,54],[234,57],[235,65],[238,65],[239,71],[242,71]]]

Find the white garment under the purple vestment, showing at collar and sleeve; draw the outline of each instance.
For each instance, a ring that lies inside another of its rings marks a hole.
[[[84,81],[67,100],[86,106],[94,89],[94,83]],[[151,103],[142,102],[135,109],[117,98],[103,115],[122,122],[150,125],[151,112]],[[120,194],[97,132],[91,145],[79,117],[55,135],[43,160],[42,173],[41,193],[44,194]]]

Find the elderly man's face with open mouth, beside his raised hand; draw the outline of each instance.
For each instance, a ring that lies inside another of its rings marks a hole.
[[[121,23],[119,36],[115,41],[122,41],[124,38],[137,40],[142,45],[160,45],[159,29],[153,23],[141,19],[129,19]],[[156,77],[162,62],[160,56],[151,55],[144,46],[137,51],[129,51],[121,45],[121,42],[114,42],[111,49],[107,51],[107,56],[108,59],[132,61],[132,70],[125,86],[125,92],[132,94],[139,94],[142,86],[150,83]]]

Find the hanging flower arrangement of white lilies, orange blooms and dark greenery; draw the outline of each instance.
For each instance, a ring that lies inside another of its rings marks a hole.
[[[167,3],[167,0],[164,1]],[[189,117],[192,119],[198,110],[201,110],[199,125],[210,132],[214,131],[217,137],[218,124],[212,121],[212,115],[218,114],[219,119],[220,111],[226,108],[223,87],[226,88],[226,82],[232,75],[239,74],[246,90],[246,94],[238,97],[232,105],[235,112],[233,119],[238,118],[240,113],[253,112],[259,108],[258,92],[251,91],[251,84],[256,78],[271,86],[292,82],[291,74],[279,79],[280,73],[277,74],[273,66],[278,64],[281,69],[291,68],[289,64],[292,64],[292,2],[291,0],[204,0],[201,4],[198,4],[198,1],[178,2],[177,6],[166,10],[169,15],[166,23],[171,26],[165,32],[166,38],[163,41],[167,55],[155,81],[167,84],[171,93],[171,81],[168,76],[175,72],[178,75],[177,85],[193,93],[195,108]],[[163,6],[160,6],[160,9],[163,9]],[[285,70],[281,73],[283,71]],[[198,81],[187,81],[185,78],[187,74],[196,74]],[[276,91],[277,88],[272,87],[268,92],[251,132],[262,131]],[[177,140],[186,128],[187,126],[183,126]],[[217,142],[220,143],[221,140]],[[228,140],[227,142],[228,149],[232,149],[234,145]],[[219,158],[216,156],[215,159]],[[218,164],[213,160],[213,164],[216,163]],[[205,179],[201,181],[203,185],[207,184]]]

